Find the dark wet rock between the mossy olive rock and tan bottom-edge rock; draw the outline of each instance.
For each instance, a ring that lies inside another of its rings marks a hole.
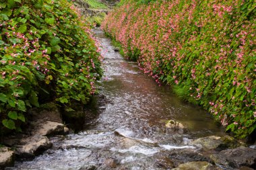
[[[191,148],[174,149],[170,151],[168,157],[173,161],[174,166],[177,167],[181,163],[187,163],[191,161],[207,161],[213,163],[207,155],[199,153]]]

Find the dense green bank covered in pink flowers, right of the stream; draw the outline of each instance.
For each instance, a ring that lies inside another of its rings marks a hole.
[[[240,138],[256,128],[256,3],[121,1],[102,24],[158,83]]]

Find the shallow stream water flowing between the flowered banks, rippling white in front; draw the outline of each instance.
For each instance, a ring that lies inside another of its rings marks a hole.
[[[99,28],[104,77],[100,93],[109,101],[90,126],[77,134],[51,138],[53,148],[13,169],[164,169],[170,151],[190,148],[195,138],[224,134],[210,114],[175,97],[143,75],[137,63],[121,57]],[[187,132],[172,132],[167,120],[177,120]]]

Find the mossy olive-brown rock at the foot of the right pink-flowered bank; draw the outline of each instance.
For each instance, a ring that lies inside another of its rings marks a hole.
[[[238,142],[235,138],[231,136],[207,136],[204,138],[198,138],[191,142],[197,146],[201,146],[205,149],[215,149],[217,151],[222,151],[226,148],[236,148],[238,146],[245,146],[243,142]]]

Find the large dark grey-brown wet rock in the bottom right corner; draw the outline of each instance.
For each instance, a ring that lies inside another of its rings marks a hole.
[[[238,168],[247,166],[256,169],[256,150],[253,148],[241,146],[227,149],[211,155],[210,158],[214,163],[225,167]]]

